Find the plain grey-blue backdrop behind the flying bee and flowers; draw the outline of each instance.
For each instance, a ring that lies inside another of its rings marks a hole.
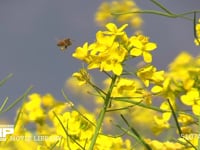
[[[102,0],[1,0],[0,1],[0,79],[14,76],[0,87],[0,104],[8,96],[9,102],[33,85],[32,92],[52,93],[63,100],[61,89],[71,74],[81,66],[71,54],[85,41],[95,40],[99,29],[94,13]],[[150,0],[135,1],[141,9],[158,9]],[[175,13],[200,9],[199,0],[164,0]],[[184,19],[170,19],[142,15],[144,34],[158,43],[153,64],[160,69],[181,51],[197,55],[193,44],[193,24]],[[198,15],[200,17],[200,15]],[[67,52],[56,47],[58,39],[70,37],[73,45]],[[13,121],[15,109],[0,116]]]

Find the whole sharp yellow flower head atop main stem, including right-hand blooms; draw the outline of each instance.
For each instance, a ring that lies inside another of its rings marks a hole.
[[[123,73],[123,64],[129,57],[143,56],[145,62],[151,63],[150,52],[156,49],[156,43],[150,42],[149,38],[142,34],[129,38],[124,31],[127,26],[128,24],[125,24],[117,28],[114,23],[106,24],[107,31],[96,33],[96,42],[86,42],[83,47],[78,47],[72,56],[86,62],[88,69],[112,71],[118,76]]]

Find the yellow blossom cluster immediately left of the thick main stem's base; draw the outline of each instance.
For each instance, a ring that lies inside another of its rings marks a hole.
[[[73,149],[80,148],[80,145],[84,147],[86,144],[85,142],[91,139],[95,129],[94,124],[92,124],[95,123],[94,115],[88,112],[80,114],[73,110],[71,112],[66,111],[63,114],[57,114],[57,116],[61,123],[54,117],[53,124],[56,135],[60,135],[64,138],[64,147],[71,147]],[[89,146],[89,144],[87,144],[87,146]]]

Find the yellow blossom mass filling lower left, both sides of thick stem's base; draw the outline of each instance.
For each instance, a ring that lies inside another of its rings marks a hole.
[[[27,102],[19,110],[12,138],[10,136],[6,142],[0,142],[0,149],[88,149],[95,129],[95,116],[85,109],[78,111],[72,107],[72,103],[57,101],[51,94],[29,95]],[[29,129],[30,127],[33,129]],[[48,138],[39,141],[27,139],[34,135]],[[16,139],[22,136],[24,138],[21,140],[13,140],[13,137]],[[130,149],[130,140],[102,134],[94,149],[126,150]]]

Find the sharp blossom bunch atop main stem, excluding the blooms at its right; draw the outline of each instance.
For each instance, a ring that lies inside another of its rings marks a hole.
[[[86,62],[88,69],[99,68],[100,71],[122,74],[122,64],[128,52],[118,40],[124,38],[126,27],[127,24],[117,28],[115,24],[108,23],[107,31],[97,32],[96,42],[90,45],[85,43],[83,47],[78,47],[72,56]]]

